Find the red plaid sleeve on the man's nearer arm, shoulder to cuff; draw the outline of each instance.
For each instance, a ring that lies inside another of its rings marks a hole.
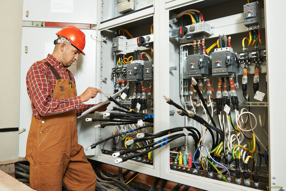
[[[59,114],[82,105],[80,96],[69,99],[55,99],[49,94],[51,85],[47,71],[34,64],[27,73],[27,91],[32,104],[41,116]]]

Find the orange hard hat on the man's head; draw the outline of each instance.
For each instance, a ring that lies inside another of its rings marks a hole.
[[[85,55],[83,50],[86,45],[86,35],[84,35],[80,29],[76,27],[65,27],[57,32],[56,35],[57,37],[62,36],[69,39],[72,45],[82,51],[81,53]]]

